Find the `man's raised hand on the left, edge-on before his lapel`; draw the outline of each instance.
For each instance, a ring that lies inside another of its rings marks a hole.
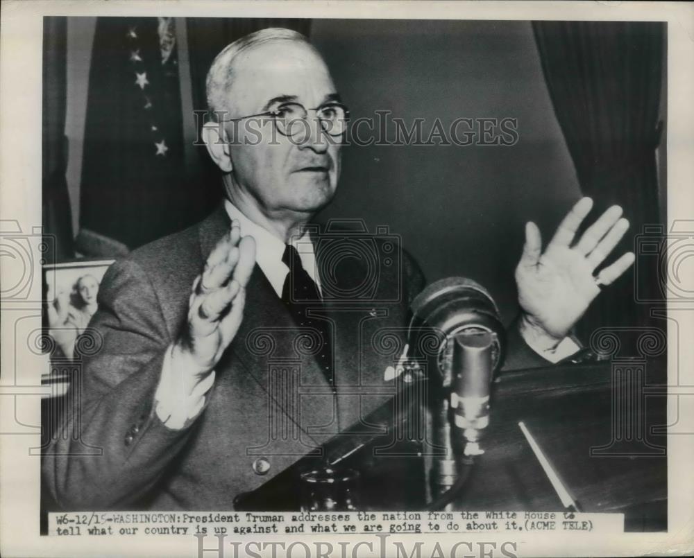
[[[210,372],[239,331],[253,265],[255,241],[252,236],[241,238],[234,220],[193,283],[187,327],[176,343],[198,367],[196,374]]]

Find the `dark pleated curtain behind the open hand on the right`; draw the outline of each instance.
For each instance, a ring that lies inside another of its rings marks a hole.
[[[613,252],[634,250],[644,225],[659,223],[655,150],[665,24],[642,21],[535,21],[532,24],[557,120],[584,195],[595,201],[586,222],[619,204],[631,227]],[[638,252],[636,253],[638,259]],[[612,259],[607,260],[609,264]],[[638,263],[638,261],[637,261]],[[650,295],[656,270],[634,266],[595,300],[579,332],[645,325],[650,306],[635,301],[634,281]]]

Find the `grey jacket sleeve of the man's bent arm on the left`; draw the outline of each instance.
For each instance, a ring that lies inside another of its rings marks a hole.
[[[130,259],[112,265],[99,311],[76,344],[83,357],[73,403],[44,451],[43,482],[63,509],[132,506],[185,446],[194,423],[169,429],[153,408],[171,342],[142,268]]]

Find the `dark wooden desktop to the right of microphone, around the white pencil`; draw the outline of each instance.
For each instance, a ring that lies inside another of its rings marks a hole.
[[[623,512],[627,530],[667,530],[664,360],[512,372],[496,381],[482,455],[462,509],[563,509],[518,428],[525,421],[584,512]]]

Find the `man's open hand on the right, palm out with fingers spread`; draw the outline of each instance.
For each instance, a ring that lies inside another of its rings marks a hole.
[[[572,246],[592,207],[591,198],[579,200],[544,253],[537,225],[525,225],[523,256],[516,268],[518,302],[524,313],[521,329],[532,330],[529,333],[534,338],[543,336],[548,348],[566,337],[600,293],[600,285],[611,284],[634,263],[634,253],[627,252],[597,276],[593,275],[624,236],[629,221],[621,218],[622,208],[614,205]]]

